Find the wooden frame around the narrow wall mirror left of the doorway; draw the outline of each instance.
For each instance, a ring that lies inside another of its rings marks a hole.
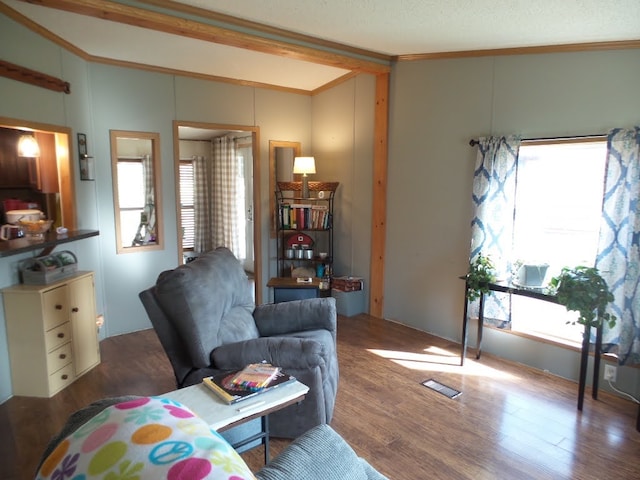
[[[111,182],[113,184],[113,210],[116,232],[117,253],[135,253],[146,250],[164,249],[164,231],[162,229],[162,190],[160,188],[160,134],[156,132],[136,132],[131,130],[109,130],[111,143]],[[151,141],[153,162],[153,189],[156,214],[156,243],[149,245],[123,245],[120,225],[120,205],[118,204],[118,138],[130,138]]]

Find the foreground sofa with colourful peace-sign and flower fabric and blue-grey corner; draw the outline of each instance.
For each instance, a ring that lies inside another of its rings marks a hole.
[[[69,417],[51,440],[36,478],[254,478],[224,439],[188,413],[179,404],[159,398],[94,402]],[[180,468],[182,476],[176,472]],[[255,472],[255,478],[387,480],[328,425],[318,425],[295,439]]]

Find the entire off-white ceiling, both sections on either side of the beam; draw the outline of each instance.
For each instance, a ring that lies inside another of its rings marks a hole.
[[[292,56],[220,45],[26,1],[0,0],[0,3],[92,57],[304,91],[313,91],[349,73],[345,68]],[[118,3],[140,8],[152,8],[150,4],[164,9],[176,5],[198,7],[389,56],[640,40],[640,0],[120,0]]]

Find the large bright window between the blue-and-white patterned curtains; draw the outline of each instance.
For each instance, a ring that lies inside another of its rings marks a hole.
[[[523,142],[518,154],[513,259],[548,264],[548,281],[562,267],[594,266],[602,217],[607,145],[603,140]],[[580,343],[577,313],[512,296],[512,329]]]

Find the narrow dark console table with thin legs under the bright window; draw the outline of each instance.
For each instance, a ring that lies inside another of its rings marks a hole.
[[[469,323],[469,319],[467,318],[468,313],[468,293],[469,293],[469,285],[466,282],[466,277],[460,277],[462,280],[465,280],[465,291],[464,291],[464,317],[462,319],[462,351],[460,352],[460,365],[464,365],[464,359],[466,356],[467,350],[467,324]],[[503,292],[508,293],[510,295],[521,295],[523,297],[535,298],[538,300],[543,300],[545,302],[558,303],[558,299],[555,295],[550,295],[541,290],[533,290],[529,288],[522,288],[512,283],[508,282],[494,282],[489,283],[489,290],[493,292]],[[476,359],[480,358],[480,354],[482,353],[482,327],[484,320],[484,294],[480,295],[480,305],[478,311],[478,345],[476,351]],[[584,402],[584,391],[587,379],[587,365],[589,360],[589,346],[591,338],[591,327],[589,325],[585,325],[584,327],[584,335],[582,339],[582,351],[580,355],[580,378],[579,378],[579,386],[578,386],[578,410],[582,410],[582,404]],[[592,397],[594,400],[598,399],[598,379],[600,372],[600,354],[602,352],[602,327],[598,327],[596,329],[596,343],[594,349],[594,361],[593,361],[593,388],[592,388]],[[640,422],[640,414],[639,420]]]

